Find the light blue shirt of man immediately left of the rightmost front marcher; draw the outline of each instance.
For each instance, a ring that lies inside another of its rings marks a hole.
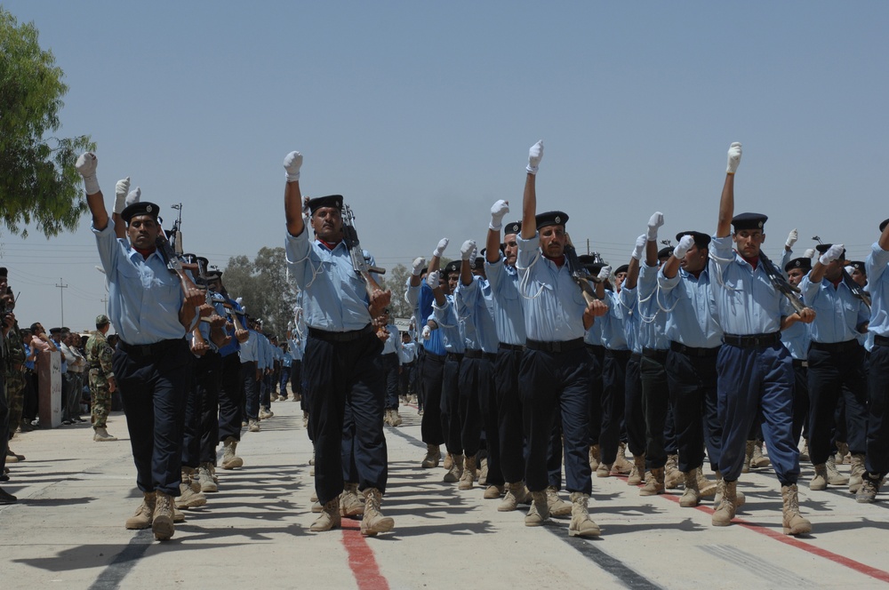
[[[667,338],[686,347],[716,348],[722,344],[722,328],[717,319],[716,301],[710,285],[709,268],[695,277],[679,268],[669,279],[658,271],[661,301],[670,310]]]

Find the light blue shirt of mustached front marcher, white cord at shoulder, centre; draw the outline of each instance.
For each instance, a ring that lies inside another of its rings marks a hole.
[[[530,240],[518,236],[519,292],[525,309],[528,339],[564,342],[583,338],[587,302],[574,283],[568,265],[561,268],[541,254],[540,234]]]

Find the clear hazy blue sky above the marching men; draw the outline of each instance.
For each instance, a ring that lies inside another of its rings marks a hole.
[[[49,2],[34,21],[70,87],[62,136],[92,135],[108,208],[117,179],[184,203],[188,251],[223,267],[284,243],[284,155],[308,195],[341,193],[378,263],[517,219],[542,139],[539,207],[614,264],[653,211],[663,236],[712,232],[725,152],[738,211],[863,258],[889,217],[889,3]],[[170,225],[168,222],[167,226]],[[0,235],[20,323],[90,327],[103,277],[84,216],[47,241]]]

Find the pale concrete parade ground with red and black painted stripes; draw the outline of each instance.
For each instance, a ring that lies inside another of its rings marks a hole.
[[[0,588],[814,588],[887,587],[889,501],[857,504],[844,490],[800,487],[813,535],[781,534],[771,470],[742,478],[737,523],[710,526],[710,506],[680,508],[679,493],[640,498],[620,478],[593,478],[602,538],[569,538],[566,521],[524,526],[483,490],[420,469],[420,417],[403,407],[387,427],[392,533],[362,538],[357,522],[314,534],[308,525],[311,446],[298,403],[273,404],[262,432],[244,433],[244,467],[219,471],[220,491],[187,513],[172,541],[124,529],[140,502],[125,420],[120,442],[92,442],[84,425],[17,435],[0,506]],[[848,466],[841,466],[848,471]],[[804,481],[811,476],[804,466]],[[55,583],[53,585],[52,583]]]

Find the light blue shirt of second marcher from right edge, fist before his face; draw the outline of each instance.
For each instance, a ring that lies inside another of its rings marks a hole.
[[[855,328],[868,321],[868,307],[853,295],[843,281],[835,288],[827,278],[813,283],[809,275],[805,275],[799,289],[803,291],[805,305],[815,310],[815,321],[812,323],[814,342],[834,344],[859,337],[860,332]]]

